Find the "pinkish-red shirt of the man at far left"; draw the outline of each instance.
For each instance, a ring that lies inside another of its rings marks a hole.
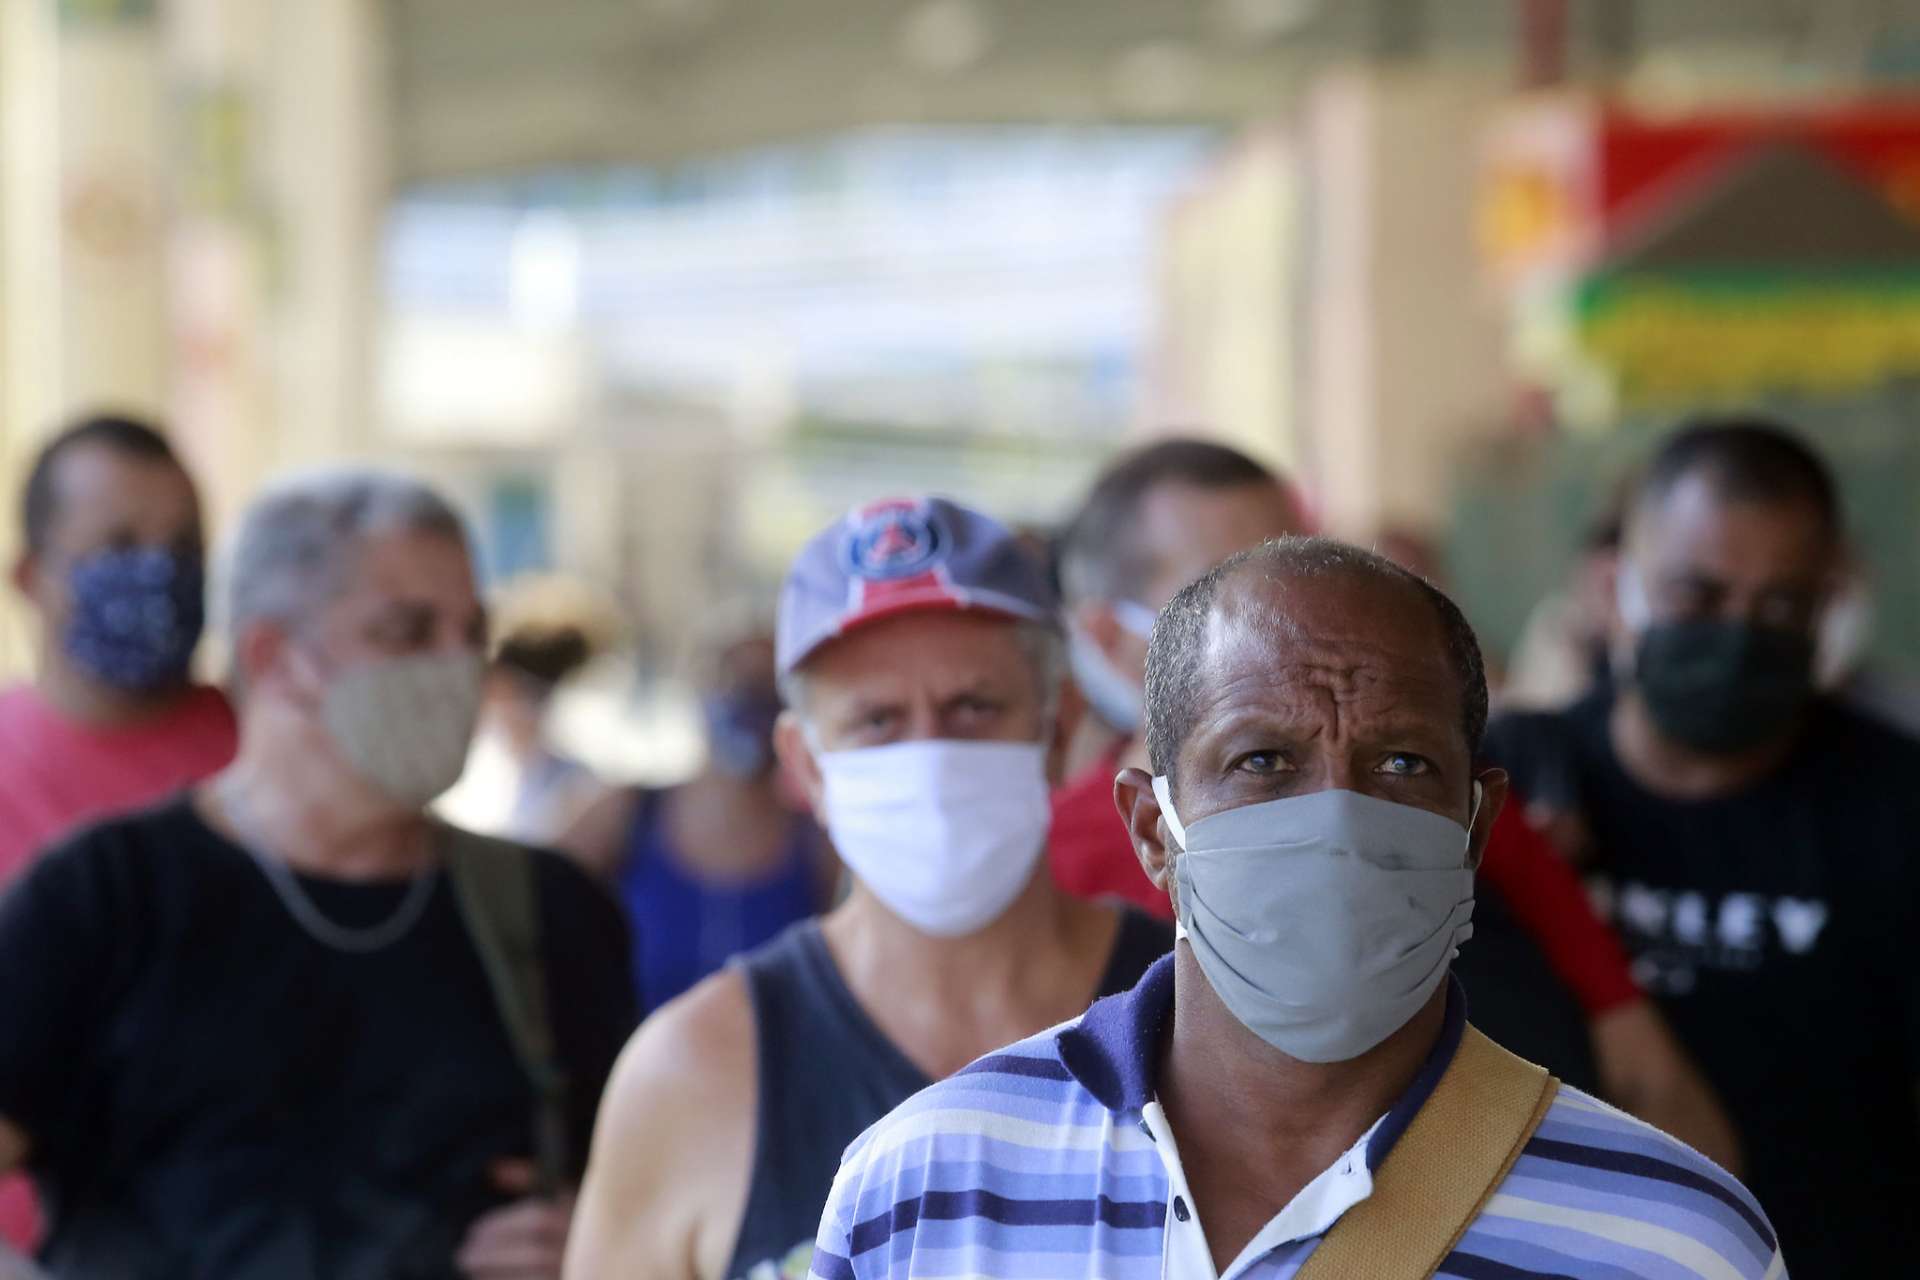
[[[75,723],[27,685],[0,693],[0,885],[75,827],[227,768],[238,741],[219,689],[192,689],[165,716],[131,727]],[[36,1236],[27,1180],[0,1178],[0,1238],[27,1249]]]

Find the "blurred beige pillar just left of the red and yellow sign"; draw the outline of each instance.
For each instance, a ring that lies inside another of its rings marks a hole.
[[[1505,424],[1503,311],[1473,236],[1488,84],[1367,69],[1309,98],[1302,453],[1336,533],[1436,528],[1455,459]]]

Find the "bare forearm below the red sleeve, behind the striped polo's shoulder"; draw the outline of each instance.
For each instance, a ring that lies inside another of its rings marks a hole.
[[[1740,1176],[1740,1134],[1651,1000],[1601,1013],[1592,1032],[1599,1086],[1609,1102]]]

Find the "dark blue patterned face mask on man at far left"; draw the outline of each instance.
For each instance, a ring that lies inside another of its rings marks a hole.
[[[94,679],[127,693],[180,681],[205,628],[200,557],[109,547],[73,564],[73,618],[61,649]]]

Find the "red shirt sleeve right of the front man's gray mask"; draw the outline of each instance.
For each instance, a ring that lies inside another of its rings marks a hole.
[[[1526,821],[1517,794],[1494,819],[1480,875],[1501,892],[1590,1017],[1640,1000],[1626,950],[1594,913],[1580,877]]]

